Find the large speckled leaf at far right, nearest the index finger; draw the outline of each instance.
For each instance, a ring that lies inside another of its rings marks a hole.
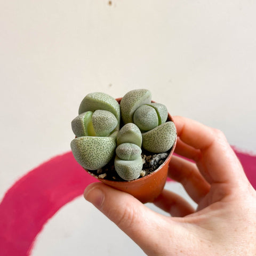
[[[177,137],[173,122],[166,122],[155,129],[142,133],[142,147],[153,153],[162,153],[169,150]]]

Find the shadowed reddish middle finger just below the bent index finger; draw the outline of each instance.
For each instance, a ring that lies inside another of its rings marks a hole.
[[[210,184],[203,178],[196,165],[178,156],[172,156],[168,175],[180,182],[197,204],[210,190]]]

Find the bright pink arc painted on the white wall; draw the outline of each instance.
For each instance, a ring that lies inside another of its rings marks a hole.
[[[241,153],[245,173],[256,188],[256,156]],[[1,256],[27,256],[37,234],[63,205],[97,181],[71,152],[54,157],[28,172],[6,192],[0,204]]]

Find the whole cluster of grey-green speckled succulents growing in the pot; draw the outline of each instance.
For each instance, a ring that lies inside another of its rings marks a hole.
[[[142,150],[164,153],[177,137],[174,123],[167,121],[167,108],[152,103],[146,89],[126,93],[120,105],[106,93],[90,93],[78,114],[71,122],[76,161],[87,170],[99,170],[114,159],[115,171],[126,181],[140,177]]]

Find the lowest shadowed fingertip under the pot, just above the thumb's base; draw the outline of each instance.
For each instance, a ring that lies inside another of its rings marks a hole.
[[[185,217],[194,213],[194,208],[181,196],[164,189],[155,199],[154,204],[168,212],[172,217]]]

